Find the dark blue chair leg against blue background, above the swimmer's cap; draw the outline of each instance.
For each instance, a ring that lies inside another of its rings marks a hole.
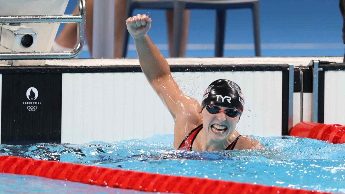
[[[223,57],[224,55],[225,21],[226,10],[217,10],[215,57]]]

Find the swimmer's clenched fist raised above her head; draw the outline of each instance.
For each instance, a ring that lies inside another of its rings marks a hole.
[[[146,35],[151,28],[151,22],[151,18],[145,14],[138,14],[126,20],[127,30],[133,38],[139,38]]]

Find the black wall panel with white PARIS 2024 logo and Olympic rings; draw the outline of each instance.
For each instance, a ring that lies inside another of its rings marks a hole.
[[[62,74],[2,74],[1,144],[61,143]]]

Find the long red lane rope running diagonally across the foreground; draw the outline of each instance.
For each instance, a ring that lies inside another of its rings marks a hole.
[[[166,193],[320,193],[206,178],[124,171],[32,158],[0,156],[0,172],[34,175],[91,185]]]

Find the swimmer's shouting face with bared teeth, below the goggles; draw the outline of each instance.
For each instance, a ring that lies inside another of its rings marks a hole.
[[[229,109],[223,106],[216,107],[223,111]],[[235,118],[231,118],[221,112],[211,114],[206,108],[201,111],[201,114],[203,115],[203,128],[207,135],[216,142],[227,139],[234,132],[240,117],[238,115]]]

